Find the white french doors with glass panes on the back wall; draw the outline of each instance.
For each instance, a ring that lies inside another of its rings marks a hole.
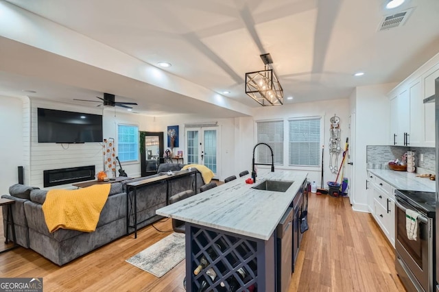
[[[217,127],[186,129],[186,153],[188,165],[204,165],[219,176]]]

